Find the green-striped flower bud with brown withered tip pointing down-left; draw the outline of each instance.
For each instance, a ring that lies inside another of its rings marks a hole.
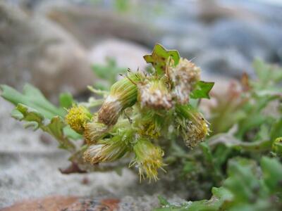
[[[114,125],[125,108],[133,106],[137,101],[137,85],[140,79],[138,73],[130,73],[111,86],[109,96],[106,98],[98,112],[99,122]]]

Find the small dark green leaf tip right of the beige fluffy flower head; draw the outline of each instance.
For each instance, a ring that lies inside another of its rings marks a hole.
[[[208,98],[209,99],[209,91],[214,87],[214,82],[203,82],[199,81],[196,84],[195,89],[191,92],[190,98]]]

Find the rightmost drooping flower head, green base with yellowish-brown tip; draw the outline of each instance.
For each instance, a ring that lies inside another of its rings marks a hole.
[[[176,122],[186,145],[193,148],[209,134],[209,122],[190,105],[176,106]]]

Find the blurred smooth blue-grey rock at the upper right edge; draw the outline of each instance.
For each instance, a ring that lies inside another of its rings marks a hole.
[[[237,49],[249,60],[255,56],[269,60],[271,52],[282,45],[281,33],[278,26],[221,20],[212,26],[209,43],[218,49]]]

